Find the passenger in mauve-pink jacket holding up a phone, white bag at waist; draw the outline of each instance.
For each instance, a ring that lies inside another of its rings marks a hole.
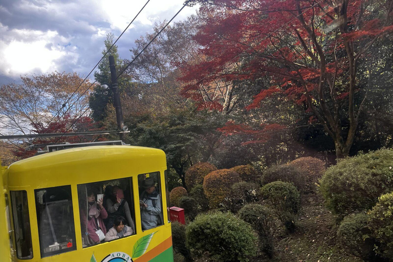
[[[90,244],[103,242],[106,228],[103,219],[106,219],[108,213],[102,205],[102,199],[96,201],[96,194],[93,189],[88,190],[88,220],[87,231]]]

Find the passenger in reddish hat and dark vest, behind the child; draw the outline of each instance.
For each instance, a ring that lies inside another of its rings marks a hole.
[[[108,211],[107,227],[112,227],[116,217],[126,217],[128,226],[135,232],[134,221],[127,201],[124,199],[124,192],[119,186],[113,186],[112,197],[106,199],[106,210]]]

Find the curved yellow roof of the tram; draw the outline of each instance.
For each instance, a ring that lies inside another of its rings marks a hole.
[[[8,169],[11,172],[23,172],[31,169],[50,168],[55,165],[83,165],[87,163],[120,162],[146,158],[165,157],[161,149],[128,146],[104,145],[92,147],[77,147],[49,152],[12,163]]]

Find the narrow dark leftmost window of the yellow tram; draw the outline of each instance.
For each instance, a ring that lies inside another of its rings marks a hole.
[[[30,231],[29,206],[27,192],[11,191],[12,218],[14,222],[14,235],[16,256],[19,259],[33,258],[33,246]]]

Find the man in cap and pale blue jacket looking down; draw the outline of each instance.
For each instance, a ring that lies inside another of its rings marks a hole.
[[[146,178],[142,182],[145,189],[141,194],[139,204],[141,206],[142,229],[150,229],[161,224],[161,198],[156,189],[153,178]]]

